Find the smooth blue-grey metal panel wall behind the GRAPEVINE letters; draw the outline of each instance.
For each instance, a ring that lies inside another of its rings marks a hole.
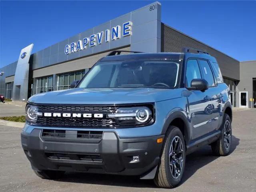
[[[150,9],[152,6],[154,6],[154,10]],[[132,35],[122,36],[122,24],[128,21],[132,22]],[[110,38],[109,42],[105,42],[105,31],[108,29],[111,32],[112,27],[116,26],[121,27],[120,38],[116,40],[111,40]],[[96,46],[92,47],[87,45],[86,49],[79,50],[68,55],[64,53],[64,48],[67,44],[70,45],[72,42],[77,43],[78,40],[89,38],[91,35],[100,33],[102,31],[103,40],[101,44],[97,44]],[[159,2],[154,2],[114,18],[99,26],[88,29],[66,40],[63,40],[62,42],[56,43],[45,48],[44,50],[34,53],[32,70],[124,46],[131,46],[131,50],[133,51],[161,51],[161,4]]]

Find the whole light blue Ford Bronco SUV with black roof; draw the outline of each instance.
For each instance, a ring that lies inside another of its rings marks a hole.
[[[21,142],[39,177],[133,175],[173,188],[187,154],[206,145],[230,152],[230,91],[214,57],[189,48],[121,52],[100,59],[75,88],[29,98]]]

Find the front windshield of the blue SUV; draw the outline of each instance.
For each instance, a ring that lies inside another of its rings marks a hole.
[[[174,88],[179,64],[172,61],[98,62],[78,88]]]

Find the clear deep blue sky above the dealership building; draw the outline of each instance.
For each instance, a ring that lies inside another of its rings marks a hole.
[[[154,1],[1,1],[0,67]],[[237,60],[256,60],[256,1],[161,1],[162,22]],[[91,7],[91,8],[90,8]]]

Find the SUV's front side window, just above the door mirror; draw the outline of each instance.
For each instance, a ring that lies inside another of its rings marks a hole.
[[[200,74],[197,60],[195,59],[188,60],[187,68],[186,68],[186,83],[187,83],[186,86],[190,87],[191,81],[193,79],[200,79],[200,78],[201,78],[201,74]]]

